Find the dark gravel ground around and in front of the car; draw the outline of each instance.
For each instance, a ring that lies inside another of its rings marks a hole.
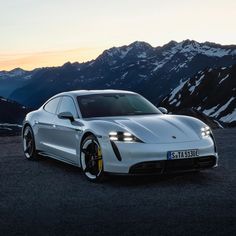
[[[76,167],[24,159],[0,138],[1,235],[235,235],[236,129],[216,130],[219,167],[88,182]]]

